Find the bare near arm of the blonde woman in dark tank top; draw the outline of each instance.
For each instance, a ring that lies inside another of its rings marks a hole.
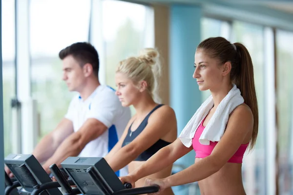
[[[108,164],[114,172],[120,170],[169,131],[177,132],[177,122],[173,109],[165,105],[152,113],[144,131],[139,136],[122,147],[114,156],[107,158]]]

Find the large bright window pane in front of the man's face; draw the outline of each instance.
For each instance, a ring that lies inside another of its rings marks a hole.
[[[74,96],[62,80],[58,53],[88,40],[89,17],[90,0],[30,0],[31,84],[38,101],[40,138],[57,126]]]

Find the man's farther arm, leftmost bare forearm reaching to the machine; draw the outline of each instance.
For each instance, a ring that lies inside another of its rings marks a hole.
[[[41,139],[41,141],[34,149],[33,155],[40,163],[43,163],[54,154],[63,140],[72,133],[72,121],[67,118],[63,118],[62,121],[57,125],[56,129]]]

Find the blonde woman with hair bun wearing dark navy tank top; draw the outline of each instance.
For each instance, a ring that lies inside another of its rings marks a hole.
[[[142,50],[137,57],[122,60],[117,67],[116,95],[123,106],[132,105],[136,114],[129,120],[121,139],[105,156],[115,172],[126,165],[129,172],[132,172],[177,138],[177,122],[173,109],[159,103],[159,75],[159,53],[153,48]],[[153,172],[149,177],[165,178],[171,175],[171,169],[172,163]],[[132,183],[133,187],[142,187],[144,184],[144,178]],[[167,188],[163,195],[173,195],[171,188]]]

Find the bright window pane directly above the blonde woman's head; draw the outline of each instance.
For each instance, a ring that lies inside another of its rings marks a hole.
[[[115,86],[118,62],[138,55],[145,47],[154,47],[152,8],[120,0],[103,1],[103,38],[106,84]],[[131,112],[134,109],[131,106]]]

